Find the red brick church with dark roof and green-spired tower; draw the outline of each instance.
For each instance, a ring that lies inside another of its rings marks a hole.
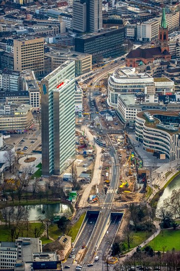
[[[168,27],[166,25],[165,10],[163,8],[161,26],[159,27],[159,47],[152,48],[137,48],[128,53],[125,59],[126,67],[136,68],[139,65],[147,65],[153,63],[156,59],[170,60],[171,54],[169,53],[168,46]]]

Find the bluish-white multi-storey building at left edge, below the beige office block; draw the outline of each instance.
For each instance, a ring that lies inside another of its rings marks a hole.
[[[4,70],[0,74],[0,88],[3,91],[18,91],[19,90],[19,71]]]

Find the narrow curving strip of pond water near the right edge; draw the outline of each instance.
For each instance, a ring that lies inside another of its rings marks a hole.
[[[157,203],[157,208],[161,207],[163,201],[167,199],[169,196],[171,196],[174,189],[176,190],[180,189],[180,174],[176,176],[176,178],[174,178],[174,180],[172,180],[170,184],[165,188],[164,193],[162,194]]]

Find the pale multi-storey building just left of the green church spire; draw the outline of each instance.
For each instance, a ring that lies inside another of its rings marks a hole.
[[[132,28],[133,29],[133,28]],[[158,38],[159,21],[150,19],[137,25],[137,40],[151,41]]]

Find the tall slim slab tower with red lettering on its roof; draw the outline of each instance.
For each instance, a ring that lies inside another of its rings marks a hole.
[[[75,62],[41,80],[42,174],[60,175],[75,156]]]

